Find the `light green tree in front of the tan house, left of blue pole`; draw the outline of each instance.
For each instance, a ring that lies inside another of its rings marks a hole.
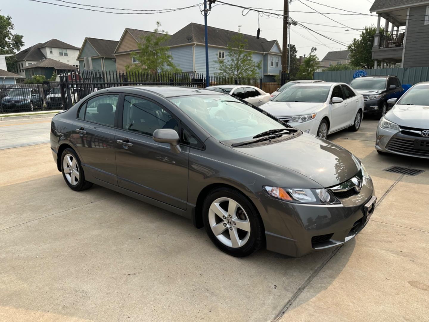
[[[170,48],[166,46],[170,36],[160,27],[161,23],[157,21],[154,32],[142,37],[141,42],[137,44],[139,52],[130,54],[138,63],[125,66],[127,72],[181,72],[181,69],[172,62]]]

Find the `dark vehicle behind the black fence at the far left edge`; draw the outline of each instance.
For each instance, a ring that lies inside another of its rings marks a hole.
[[[15,87],[1,99],[1,106],[4,112],[33,111],[36,106],[43,106],[43,100],[37,88]]]

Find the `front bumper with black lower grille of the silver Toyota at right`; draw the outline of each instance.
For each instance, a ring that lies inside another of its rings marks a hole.
[[[422,147],[417,148],[418,145],[416,143],[416,140],[419,140],[420,146],[425,145],[429,147],[429,138],[406,133],[407,131],[381,128],[380,125],[378,125],[375,137],[375,149],[397,155],[429,158],[429,149],[422,149]]]

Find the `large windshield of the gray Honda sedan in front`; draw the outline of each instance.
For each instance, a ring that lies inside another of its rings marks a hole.
[[[180,96],[169,100],[212,137],[225,143],[250,140],[264,131],[287,128],[281,121],[227,95]]]

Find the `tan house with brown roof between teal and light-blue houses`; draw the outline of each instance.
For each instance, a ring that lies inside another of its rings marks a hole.
[[[127,65],[138,63],[135,58],[131,57],[130,53],[138,52],[139,46],[137,46],[137,44],[141,42],[142,37],[148,36],[151,33],[153,32],[125,28],[118,46],[116,46],[115,52],[113,53],[116,58],[116,70],[118,72],[125,71],[125,66]]]

